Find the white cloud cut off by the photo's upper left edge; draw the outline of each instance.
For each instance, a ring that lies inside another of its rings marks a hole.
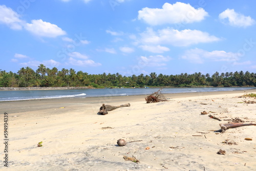
[[[23,29],[23,20],[19,19],[19,15],[11,8],[0,5],[0,24],[6,24],[13,30]]]

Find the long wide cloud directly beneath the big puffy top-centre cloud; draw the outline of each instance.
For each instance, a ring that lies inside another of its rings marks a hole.
[[[179,31],[166,28],[155,32],[152,28],[147,28],[147,30],[140,35],[140,42],[142,44],[168,44],[179,47],[220,40],[220,38],[211,36],[207,32],[190,29]]]

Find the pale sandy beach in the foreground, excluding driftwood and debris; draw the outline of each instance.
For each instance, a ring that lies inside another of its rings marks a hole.
[[[8,113],[9,133],[8,168],[1,145],[0,169],[256,170],[255,126],[215,132],[236,117],[256,122],[256,103],[238,97],[245,93],[256,90],[166,94],[169,101],[149,104],[144,95],[0,102],[0,126]],[[128,102],[97,114],[102,103]],[[120,138],[125,146],[117,145]],[[226,154],[217,154],[220,149]]]

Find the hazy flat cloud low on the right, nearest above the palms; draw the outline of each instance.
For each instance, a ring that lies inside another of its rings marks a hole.
[[[205,59],[210,61],[237,61],[239,53],[225,52],[225,51],[205,51],[202,49],[190,49],[181,57],[192,63],[203,63]]]

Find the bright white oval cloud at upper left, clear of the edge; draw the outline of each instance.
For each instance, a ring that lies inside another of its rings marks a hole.
[[[57,37],[66,34],[66,32],[57,25],[44,22],[41,19],[33,19],[31,22],[31,24],[26,24],[25,29],[37,36]]]

